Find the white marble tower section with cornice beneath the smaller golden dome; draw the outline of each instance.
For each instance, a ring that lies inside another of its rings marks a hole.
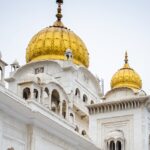
[[[128,88],[118,89],[106,94],[102,103],[88,106],[89,134],[98,147],[103,150],[149,150],[150,97],[143,92],[140,94]]]

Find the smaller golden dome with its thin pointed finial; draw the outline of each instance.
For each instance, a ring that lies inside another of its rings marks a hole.
[[[130,68],[128,64],[127,52],[125,55],[125,64],[123,68],[118,70],[111,80],[111,88],[128,87],[132,89],[141,89],[142,81],[140,76]]]

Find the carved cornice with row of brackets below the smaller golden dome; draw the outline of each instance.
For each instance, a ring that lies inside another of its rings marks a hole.
[[[149,96],[143,96],[138,98],[124,99],[120,101],[108,101],[99,104],[89,105],[87,106],[87,108],[89,110],[90,115],[127,109],[135,109],[140,108],[142,106],[147,106],[145,104],[149,100],[149,98]]]

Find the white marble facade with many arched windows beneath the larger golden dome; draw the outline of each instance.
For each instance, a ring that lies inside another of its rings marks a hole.
[[[98,103],[98,80],[67,61],[41,61],[12,68],[0,86],[0,149],[99,148],[89,136],[86,105]]]

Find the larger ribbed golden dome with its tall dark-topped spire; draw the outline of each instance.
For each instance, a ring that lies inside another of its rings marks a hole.
[[[66,60],[65,52],[71,49],[73,63],[89,66],[89,54],[84,42],[61,21],[63,0],[56,0],[57,20],[33,36],[26,49],[26,62],[42,60]]]

